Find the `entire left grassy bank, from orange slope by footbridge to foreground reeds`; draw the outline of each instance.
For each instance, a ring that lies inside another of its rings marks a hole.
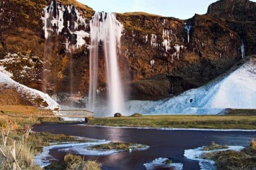
[[[49,146],[50,143],[89,142],[86,139],[63,134],[31,133],[31,131],[26,133],[26,127],[31,130],[31,125],[34,124],[64,122],[56,117],[34,117],[31,113],[36,109],[36,107],[23,105],[0,105],[0,133],[5,133],[0,137],[0,169],[13,169],[17,166],[18,169],[42,169],[35,165],[34,156],[42,152],[43,147]],[[75,167],[99,170],[101,164],[93,160],[83,160],[81,156],[69,155],[65,160],[53,162],[49,167],[50,169]]]

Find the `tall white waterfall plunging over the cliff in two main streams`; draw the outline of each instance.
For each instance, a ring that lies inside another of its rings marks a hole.
[[[110,114],[124,111],[124,96],[118,67],[118,49],[122,35],[122,24],[115,14],[96,12],[90,22],[90,86],[89,108],[96,109],[98,88],[98,46],[103,45]],[[105,111],[106,112],[106,111]]]

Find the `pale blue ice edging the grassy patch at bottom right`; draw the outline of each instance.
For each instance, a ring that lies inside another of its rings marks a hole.
[[[203,159],[202,156],[204,154],[207,154],[209,152],[218,152],[218,151],[226,151],[226,150],[234,150],[234,151],[241,151],[244,147],[243,146],[228,146],[226,149],[221,150],[213,150],[213,151],[204,151],[204,146],[191,149],[191,150],[185,150],[184,156],[191,160],[197,160],[199,161],[200,169],[203,170],[210,170],[210,169],[216,169],[214,166],[214,161],[209,159]]]

